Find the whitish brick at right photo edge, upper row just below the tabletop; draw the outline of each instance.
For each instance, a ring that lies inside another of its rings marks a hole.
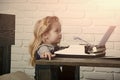
[[[119,68],[95,67],[96,72],[120,72]]]

